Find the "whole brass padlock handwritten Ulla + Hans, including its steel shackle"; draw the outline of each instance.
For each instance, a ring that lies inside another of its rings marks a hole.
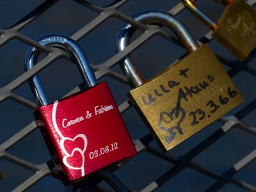
[[[145,81],[130,56],[121,66],[136,87],[129,93],[136,109],[164,151],[211,124],[243,102],[243,97],[208,45],[200,47],[188,28],[170,13],[147,10],[132,19],[172,29],[188,56]],[[136,28],[125,23],[116,50],[122,51]]]

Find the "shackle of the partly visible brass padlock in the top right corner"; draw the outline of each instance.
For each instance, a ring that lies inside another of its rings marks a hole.
[[[190,12],[192,12],[198,19],[204,22],[204,24],[211,28],[213,31],[218,28],[218,22],[209,17],[209,15],[206,15],[204,12],[202,12],[202,10],[198,9],[192,0],[182,0],[182,3],[188,8]]]

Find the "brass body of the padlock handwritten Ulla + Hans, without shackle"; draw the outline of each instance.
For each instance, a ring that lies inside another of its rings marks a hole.
[[[164,151],[243,102],[208,45],[129,93]]]

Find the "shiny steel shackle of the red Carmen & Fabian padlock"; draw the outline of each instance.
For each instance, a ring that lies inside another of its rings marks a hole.
[[[97,79],[94,75],[90,62],[84,54],[83,49],[77,44],[72,38],[60,35],[60,34],[50,34],[42,36],[37,40],[41,45],[51,45],[52,47],[65,47],[68,53],[71,54],[77,60],[77,67],[82,74],[84,83],[87,87],[94,86],[97,84]],[[40,52],[35,49],[35,47],[29,47],[25,58],[25,70],[31,69],[37,60],[38,54]],[[45,93],[44,86],[42,86],[40,77],[36,74],[32,81],[29,81],[31,89],[34,90],[36,99],[41,106],[49,104],[49,99]]]

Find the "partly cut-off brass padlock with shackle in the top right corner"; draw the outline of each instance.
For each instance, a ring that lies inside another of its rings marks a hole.
[[[256,43],[256,11],[250,5],[243,0],[225,0],[227,7],[217,23],[196,8],[193,1],[182,3],[213,30],[212,37],[223,47],[240,61],[246,59]]]

